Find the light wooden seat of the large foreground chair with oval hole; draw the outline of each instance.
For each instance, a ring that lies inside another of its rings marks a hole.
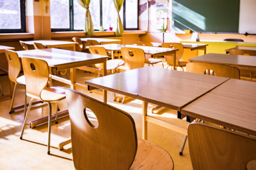
[[[147,140],[138,139],[138,149],[130,170],[172,170],[173,161],[163,148]]]

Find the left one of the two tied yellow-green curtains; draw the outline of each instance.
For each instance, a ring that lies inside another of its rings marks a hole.
[[[92,18],[89,10],[90,0],[77,0],[79,4],[86,9],[85,14],[85,32],[87,32],[87,37],[94,36],[94,29],[92,25]]]

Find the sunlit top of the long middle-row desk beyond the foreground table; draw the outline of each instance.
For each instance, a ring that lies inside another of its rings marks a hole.
[[[140,46],[140,45],[120,45],[120,44],[104,44],[104,45],[95,45],[95,46],[104,47],[106,50],[121,50],[122,47],[140,48],[146,54],[152,54],[152,55],[178,50],[178,49],[172,49],[172,48],[148,47],[148,46]]]

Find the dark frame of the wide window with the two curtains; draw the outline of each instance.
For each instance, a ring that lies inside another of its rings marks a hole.
[[[84,30],[74,30],[74,6],[73,6],[74,0],[69,0],[69,28],[51,28],[51,32],[60,32],[60,31],[84,31]],[[139,15],[139,0],[138,0],[138,14]],[[137,28],[126,28],[125,24],[125,0],[123,2],[123,28],[124,30],[138,30],[138,22],[137,22]],[[138,21],[138,20],[137,20]],[[100,0],[100,25],[102,25],[102,0]],[[98,30],[95,30],[98,31]]]

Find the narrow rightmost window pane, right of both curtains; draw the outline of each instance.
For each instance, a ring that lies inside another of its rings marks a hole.
[[[138,0],[125,1],[125,26],[138,28]]]

